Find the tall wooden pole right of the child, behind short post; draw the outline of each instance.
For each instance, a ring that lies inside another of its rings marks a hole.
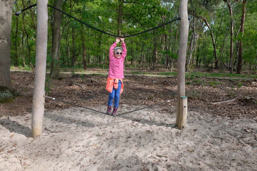
[[[180,38],[179,38],[179,50],[178,50],[178,100],[177,100],[177,117],[176,125],[179,123],[180,115],[180,96],[185,96],[185,64],[187,53],[187,40],[188,40],[188,15],[187,15],[187,0],[180,1],[179,4],[179,17],[180,19]]]

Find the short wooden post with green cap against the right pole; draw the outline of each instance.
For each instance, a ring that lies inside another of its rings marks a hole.
[[[186,127],[186,120],[187,120],[187,97],[180,96],[180,109],[179,109],[179,129],[185,129]]]

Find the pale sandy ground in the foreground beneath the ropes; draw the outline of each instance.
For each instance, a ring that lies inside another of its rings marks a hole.
[[[0,170],[257,170],[256,119],[188,112],[185,130],[175,122],[174,106],[116,117],[68,108],[45,112],[33,139],[31,113],[3,116]]]

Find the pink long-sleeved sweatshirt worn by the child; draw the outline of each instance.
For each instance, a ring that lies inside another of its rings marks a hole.
[[[112,46],[109,49],[109,59],[110,59],[110,64],[109,64],[109,75],[108,77],[111,78],[124,78],[123,75],[123,69],[124,69],[124,58],[127,53],[126,45],[125,43],[121,44],[122,47],[122,55],[120,59],[117,59],[113,55],[113,49],[117,46],[117,43],[114,42]]]

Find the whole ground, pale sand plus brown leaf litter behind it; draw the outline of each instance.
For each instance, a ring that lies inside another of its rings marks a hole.
[[[105,112],[107,75],[95,72],[63,74],[47,96]],[[187,77],[187,124],[179,130],[176,77],[127,72],[118,113],[171,101],[112,117],[45,98],[44,130],[33,139],[33,76],[11,72],[22,96],[0,105],[0,170],[257,170],[253,79]],[[248,98],[212,104],[236,96]]]

